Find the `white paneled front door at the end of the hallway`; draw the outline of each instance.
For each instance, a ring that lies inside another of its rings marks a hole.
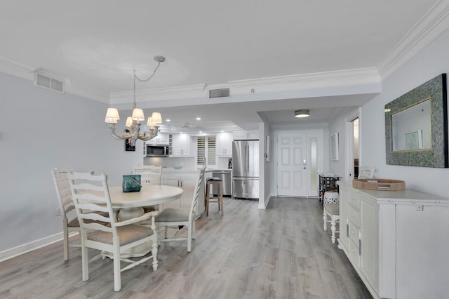
[[[307,134],[279,133],[277,135],[279,196],[307,196]]]

